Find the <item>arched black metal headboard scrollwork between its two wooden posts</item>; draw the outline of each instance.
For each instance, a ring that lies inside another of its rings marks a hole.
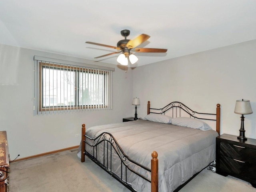
[[[150,114],[150,113],[165,114],[167,111],[170,111],[170,110],[172,110],[172,112],[171,112],[172,117],[180,117],[182,112],[186,112],[190,116],[190,118],[194,117],[194,118],[201,119],[201,120],[214,120],[214,121],[217,120],[217,118],[216,118],[217,114],[199,113],[199,112],[193,111],[188,106],[186,106],[183,103],[178,102],[178,101],[171,102],[168,105],[164,106],[163,108],[159,108],[159,109],[150,108],[150,102],[148,101],[148,114]],[[203,115],[207,115],[207,116],[212,115],[213,118],[203,118],[202,117]]]

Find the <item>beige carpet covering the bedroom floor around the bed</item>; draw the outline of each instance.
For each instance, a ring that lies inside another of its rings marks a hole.
[[[76,151],[10,163],[9,192],[130,192],[94,162],[81,163]],[[203,170],[180,192],[256,192],[248,182]]]

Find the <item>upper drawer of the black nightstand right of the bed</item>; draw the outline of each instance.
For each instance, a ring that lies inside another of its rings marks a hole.
[[[234,158],[240,161],[254,162],[256,161],[256,150],[240,145],[226,142],[220,142],[220,155]]]

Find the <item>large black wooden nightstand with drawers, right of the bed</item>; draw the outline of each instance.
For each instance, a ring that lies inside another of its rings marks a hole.
[[[216,173],[250,182],[256,188],[256,139],[240,141],[222,134],[216,138]]]

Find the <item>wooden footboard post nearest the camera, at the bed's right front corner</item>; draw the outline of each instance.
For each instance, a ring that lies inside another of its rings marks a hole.
[[[158,154],[153,151],[151,156],[151,192],[158,192]]]

